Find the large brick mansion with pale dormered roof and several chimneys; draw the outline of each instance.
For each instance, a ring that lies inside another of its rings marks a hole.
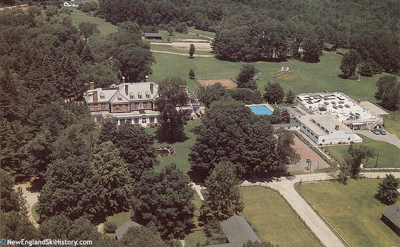
[[[104,118],[114,118],[116,125],[157,125],[159,111],[154,108],[154,101],[158,97],[158,84],[150,81],[127,83],[122,78],[119,85],[94,87],[94,82],[90,82],[83,99],[95,122],[102,123]],[[185,87],[182,90],[187,93],[187,104],[177,109],[187,110],[190,115],[198,113],[200,103],[197,97]]]

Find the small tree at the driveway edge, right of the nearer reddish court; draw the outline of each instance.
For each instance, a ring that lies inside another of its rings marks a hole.
[[[358,175],[361,170],[360,164],[366,158],[373,158],[375,151],[363,144],[350,144],[344,154],[344,162],[350,167],[350,175]]]

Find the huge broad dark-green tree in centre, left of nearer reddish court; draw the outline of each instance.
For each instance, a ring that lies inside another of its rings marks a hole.
[[[204,179],[224,160],[234,164],[239,177],[277,167],[272,126],[243,103],[230,98],[214,101],[201,121],[189,154],[193,176]]]

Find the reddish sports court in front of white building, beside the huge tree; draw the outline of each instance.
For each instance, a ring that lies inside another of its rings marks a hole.
[[[318,154],[297,138],[297,136],[294,136],[293,148],[300,154],[301,159],[297,164],[289,165],[288,171],[306,170],[307,158],[311,159],[311,170],[327,168],[329,166]]]

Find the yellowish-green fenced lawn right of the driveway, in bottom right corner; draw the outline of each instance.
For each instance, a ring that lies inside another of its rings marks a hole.
[[[303,183],[301,189],[351,247],[399,246],[400,237],[381,220],[388,206],[373,197],[381,179]]]

